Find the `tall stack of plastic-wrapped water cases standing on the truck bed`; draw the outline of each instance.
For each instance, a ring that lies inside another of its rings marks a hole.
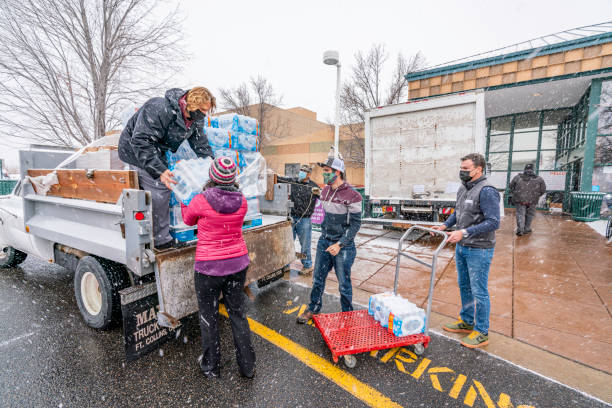
[[[239,167],[238,184],[247,198],[248,210],[245,227],[261,225],[258,195],[264,194],[258,184],[262,178],[261,164],[265,160],[259,153],[259,123],[248,116],[228,113],[207,118],[204,133],[208,138],[215,157],[228,156]],[[264,175],[265,177],[265,170]]]

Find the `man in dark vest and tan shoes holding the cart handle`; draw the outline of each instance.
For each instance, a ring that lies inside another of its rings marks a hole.
[[[461,159],[455,212],[444,225],[434,229],[444,231],[453,225],[448,242],[456,243],[455,263],[461,294],[460,319],[447,324],[444,330],[469,333],[461,344],[482,347],[489,343],[490,301],[487,287],[489,268],[495,248],[495,230],[499,228],[499,193],[483,174],[485,159],[471,153]]]

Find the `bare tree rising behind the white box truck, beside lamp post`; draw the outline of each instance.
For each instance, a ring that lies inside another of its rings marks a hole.
[[[364,54],[355,54],[355,64],[348,81],[340,91],[341,133],[349,135],[351,142],[342,152],[347,160],[363,165],[365,112],[383,105],[399,103],[407,97],[408,82],[405,75],[425,66],[420,52],[406,57],[399,53],[388,82],[384,82],[385,63],[389,54],[382,44],[374,44]]]

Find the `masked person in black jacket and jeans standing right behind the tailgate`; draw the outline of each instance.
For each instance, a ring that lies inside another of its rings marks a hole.
[[[301,275],[308,275],[312,272],[312,255],[310,246],[312,241],[312,223],[310,217],[314,212],[315,203],[320,194],[317,183],[310,179],[312,168],[303,165],[296,178],[278,177],[281,183],[291,184],[291,218],[293,225],[293,239],[297,236],[300,241],[300,251],[303,255]]]

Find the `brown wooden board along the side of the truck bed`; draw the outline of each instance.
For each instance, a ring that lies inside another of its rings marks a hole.
[[[53,170],[28,170],[28,176],[45,176]],[[87,177],[86,170],[57,170],[58,184],[47,195],[64,198],[78,198],[102,203],[116,203],[123,189],[138,188],[138,175],[131,170],[93,170],[93,177]],[[36,187],[34,187],[36,189]]]

